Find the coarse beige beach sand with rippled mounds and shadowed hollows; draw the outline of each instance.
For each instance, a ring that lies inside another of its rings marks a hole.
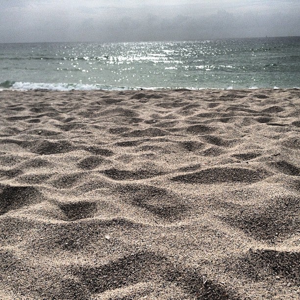
[[[0,299],[299,299],[300,90],[0,103]]]

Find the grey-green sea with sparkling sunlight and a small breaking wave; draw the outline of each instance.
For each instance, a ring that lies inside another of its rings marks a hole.
[[[299,87],[300,37],[0,44],[0,89]]]

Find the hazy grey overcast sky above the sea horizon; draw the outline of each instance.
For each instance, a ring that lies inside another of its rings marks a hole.
[[[0,43],[299,35],[299,0],[0,0]]]

